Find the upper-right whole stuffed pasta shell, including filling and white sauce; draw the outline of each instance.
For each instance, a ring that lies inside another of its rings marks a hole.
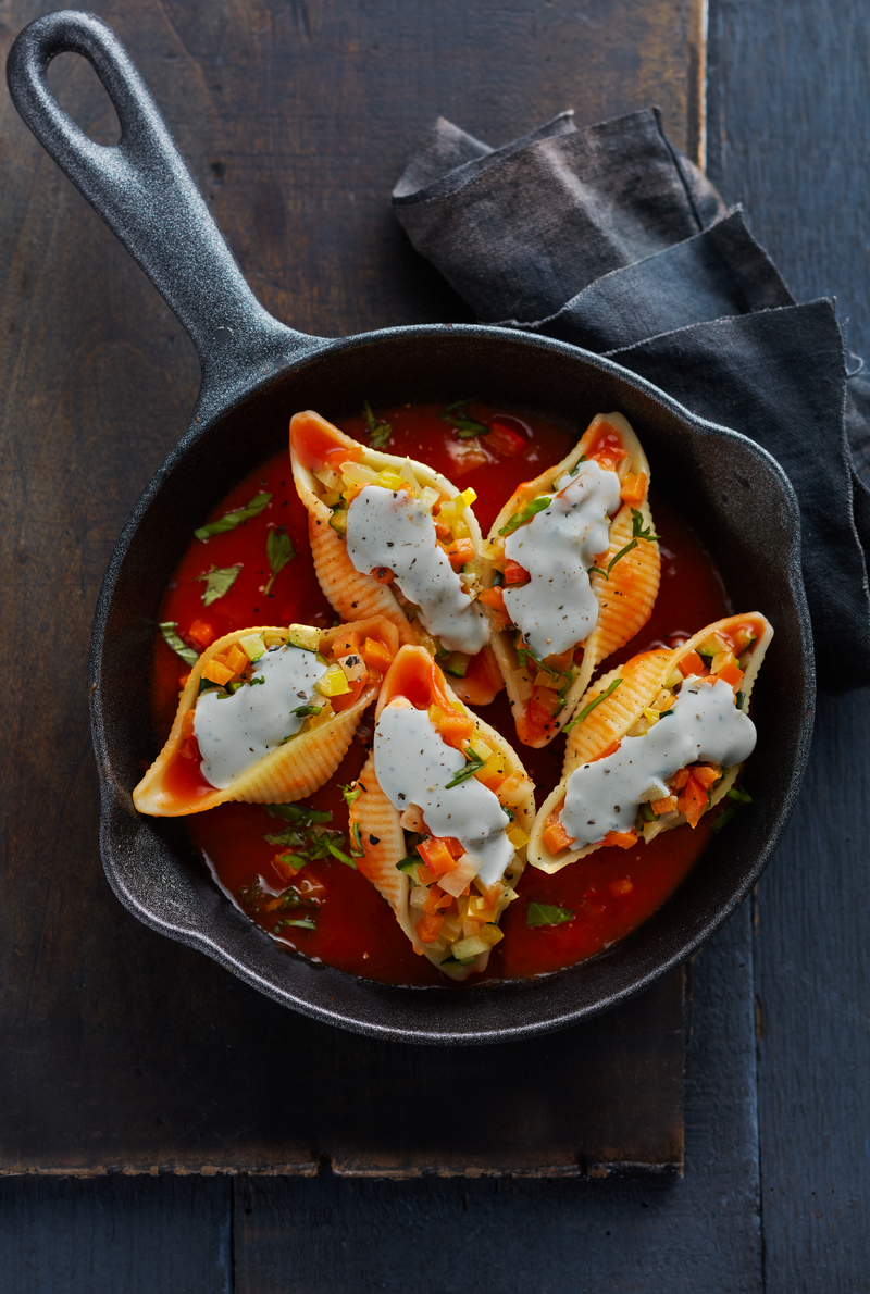
[[[597,665],[646,624],[660,559],[650,466],[621,414],[598,414],[520,485],[484,545],[493,650],[520,741],[548,745]]]

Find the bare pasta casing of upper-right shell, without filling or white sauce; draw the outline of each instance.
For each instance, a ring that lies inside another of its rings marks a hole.
[[[629,453],[630,471],[643,472],[650,481],[650,465],[641,443],[632,431],[632,427],[621,414],[597,414],[589,423],[583,439],[574,446],[567,458],[563,458],[555,467],[549,467],[532,481],[524,481],[510,497],[496,518],[489,537],[483,546],[484,558],[489,546],[498,538],[498,531],[508,524],[514,512],[524,507],[536,496],[550,490],[553,481],[577,463],[593,443],[602,423],[608,423],[619,432],[623,445]],[[643,529],[652,529],[652,515],[646,498],[640,505],[624,503],[610,524],[607,553],[602,558],[603,571],[627,543],[632,541],[632,509],[643,516]],[[484,584],[492,584],[492,563],[487,563]],[[641,540],[630,553],[616,563],[610,573],[610,578],[602,575],[592,575],[592,590],[598,599],[599,612],[596,628],[585,641],[583,665],[577,677],[566,692],[566,703],[561,713],[557,714],[549,731],[540,736],[535,734],[527,723],[527,707],[532,692],[536,666],[531,672],[519,669],[517,651],[513,643],[513,633],[508,630],[495,630],[492,633],[492,647],[498,661],[508,695],[514,713],[517,735],[524,745],[545,747],[564,727],[576,709],[577,701],[585,692],[598,664],[612,655],[619,647],[629,642],[638,633],[652,613],[652,607],[659,593],[659,578],[662,573],[662,560],[659,545],[655,541]]]

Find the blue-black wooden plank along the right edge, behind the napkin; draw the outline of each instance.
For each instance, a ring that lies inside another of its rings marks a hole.
[[[870,17],[719,0],[715,176],[799,298],[835,294],[870,352]],[[759,886],[756,996],[765,1289],[865,1289],[867,696],[822,697],[804,792]]]

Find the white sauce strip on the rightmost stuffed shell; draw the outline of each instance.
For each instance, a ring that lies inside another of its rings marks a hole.
[[[605,760],[584,763],[567,780],[561,820],[574,849],[594,845],[608,831],[630,831],[638,805],[671,795],[665,785],[697,760],[725,769],[755,749],[755,725],[738,710],[729,683],[691,675],[668,712],[643,736],[627,736]]]

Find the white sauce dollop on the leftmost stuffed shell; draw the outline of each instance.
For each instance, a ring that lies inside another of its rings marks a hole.
[[[206,782],[225,791],[285,738],[294,736],[306,716],[291,710],[324,704],[315,683],[326,669],[313,651],[274,647],[256,663],[252,677],[262,678],[262,683],[243,683],[232,696],[223,691],[203,692],[194,710],[193,731]]]

